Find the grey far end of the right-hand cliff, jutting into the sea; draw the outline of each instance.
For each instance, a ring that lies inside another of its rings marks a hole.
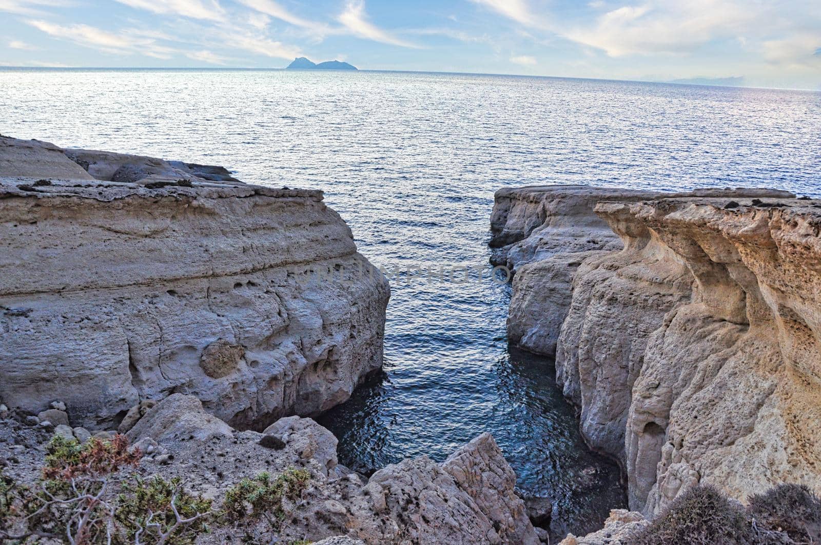
[[[553,355],[571,303],[576,268],[621,240],[595,213],[600,202],[636,202],[699,195],[792,197],[786,191],[695,190],[663,193],[589,185],[531,185],[496,192],[491,216],[493,263],[515,271],[507,336],[537,354]]]

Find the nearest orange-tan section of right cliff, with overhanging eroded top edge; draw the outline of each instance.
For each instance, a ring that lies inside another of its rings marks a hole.
[[[632,389],[631,506],[658,513],[690,483],[741,500],[784,482],[821,490],[821,202],[612,208],[601,212],[643,224],[693,278]]]

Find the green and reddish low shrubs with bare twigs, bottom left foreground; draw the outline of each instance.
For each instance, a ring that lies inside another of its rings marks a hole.
[[[241,530],[244,543],[276,543],[310,483],[305,469],[259,474],[215,507],[178,477],[129,474],[141,455],[123,435],[84,443],[55,435],[38,483],[26,486],[0,469],[0,543],[189,545],[221,524]]]

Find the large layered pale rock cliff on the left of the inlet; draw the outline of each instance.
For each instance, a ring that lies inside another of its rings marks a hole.
[[[239,428],[326,410],[382,364],[389,289],[371,271],[320,191],[0,138],[11,407],[61,399],[91,429],[175,392]]]

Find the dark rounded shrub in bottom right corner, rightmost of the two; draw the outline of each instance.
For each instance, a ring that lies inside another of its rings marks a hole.
[[[803,484],[779,484],[750,497],[756,525],[782,531],[796,543],[821,543],[821,500]]]

